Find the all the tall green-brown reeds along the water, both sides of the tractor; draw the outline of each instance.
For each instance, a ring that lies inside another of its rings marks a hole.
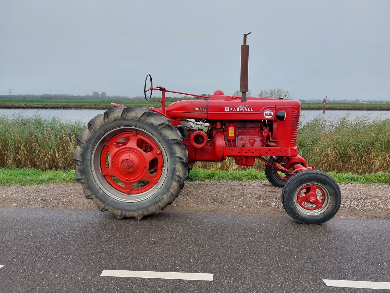
[[[76,138],[84,128],[82,123],[40,116],[0,117],[0,168],[72,169]],[[308,165],[325,172],[390,172],[390,119],[315,119],[300,127],[297,144]],[[248,168],[236,166],[231,158],[222,163],[199,162],[196,166],[226,171],[264,169],[259,160]]]

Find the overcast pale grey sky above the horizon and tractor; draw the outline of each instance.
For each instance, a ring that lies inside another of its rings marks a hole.
[[[0,94],[143,95],[249,88],[292,98],[390,99],[390,1],[86,1],[0,3]]]

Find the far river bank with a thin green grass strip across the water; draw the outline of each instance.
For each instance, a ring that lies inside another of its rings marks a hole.
[[[123,103],[125,104],[125,103]],[[134,104],[127,104],[129,106]],[[140,105],[137,103],[137,105]],[[151,105],[148,103],[140,105],[142,107],[153,107],[155,105]],[[0,104],[0,109],[110,109],[112,105],[110,102],[107,104]],[[322,105],[316,106],[307,106],[302,105],[301,110],[322,110]],[[326,110],[347,110],[347,111],[390,111],[390,105],[383,106],[371,106],[371,105],[329,105],[326,106]]]

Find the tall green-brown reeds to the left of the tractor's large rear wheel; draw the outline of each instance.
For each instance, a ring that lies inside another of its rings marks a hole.
[[[0,117],[0,167],[67,170],[74,168],[76,139],[85,125],[41,116]]]

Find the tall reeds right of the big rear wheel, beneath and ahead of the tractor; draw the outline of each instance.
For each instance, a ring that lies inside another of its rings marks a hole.
[[[308,166],[324,172],[355,174],[390,172],[390,119],[367,121],[365,118],[337,122],[314,119],[301,125],[297,145]],[[222,163],[199,162],[199,168],[211,170],[246,170],[234,159]],[[264,163],[252,167],[264,170]]]

